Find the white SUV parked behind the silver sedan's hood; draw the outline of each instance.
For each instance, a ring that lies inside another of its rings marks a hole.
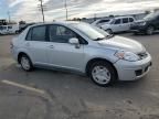
[[[132,17],[117,17],[110,20],[109,23],[102,25],[102,29],[108,33],[125,32],[130,30],[131,23],[135,22]]]

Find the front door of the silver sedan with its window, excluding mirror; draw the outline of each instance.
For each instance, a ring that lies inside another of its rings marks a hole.
[[[68,43],[71,37],[76,37],[76,33],[63,25],[50,25],[49,39],[50,39],[50,64],[82,71],[84,65],[84,45],[76,47]]]

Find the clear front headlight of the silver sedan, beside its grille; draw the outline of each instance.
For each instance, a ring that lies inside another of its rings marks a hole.
[[[125,52],[125,51],[118,51],[115,53],[115,56],[119,60],[125,60],[129,62],[136,62],[139,61],[139,56],[132,52]]]

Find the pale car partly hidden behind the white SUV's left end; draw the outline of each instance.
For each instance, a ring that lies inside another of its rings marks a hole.
[[[110,19],[100,19],[100,20],[96,20],[92,23],[92,25],[95,25],[97,28],[102,28],[102,25],[109,23]]]

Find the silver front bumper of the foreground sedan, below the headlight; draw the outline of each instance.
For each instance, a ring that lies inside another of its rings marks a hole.
[[[148,56],[141,61],[128,62],[119,60],[115,63],[115,67],[118,73],[119,80],[135,80],[144,77],[151,67],[151,56]]]

